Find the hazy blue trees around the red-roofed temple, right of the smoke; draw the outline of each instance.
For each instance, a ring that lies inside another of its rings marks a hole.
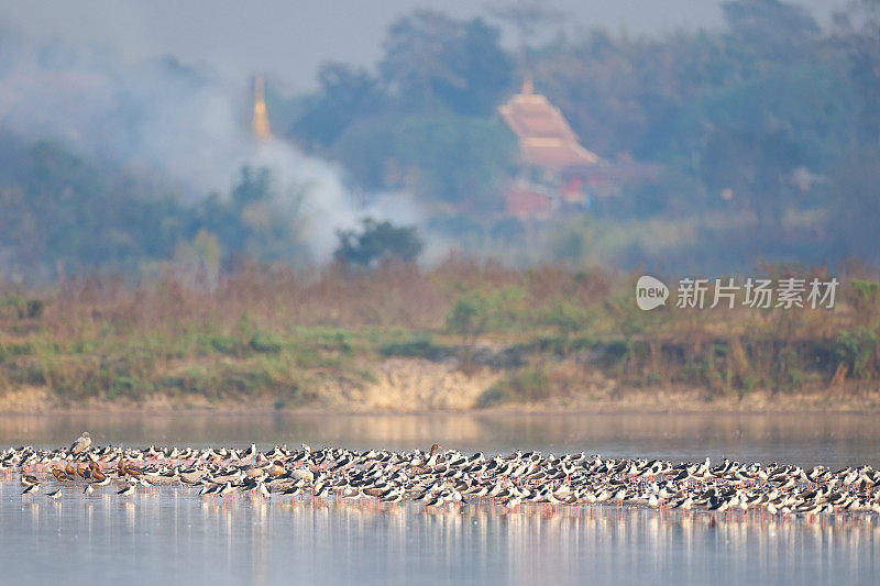
[[[495,15],[540,21],[547,11],[534,8]],[[593,215],[743,218],[697,236],[728,265],[758,254],[877,261],[880,2],[854,2],[826,30],[778,0],[723,9],[721,31],[588,29],[527,44],[520,55],[503,49],[498,29],[482,19],[416,12],[389,27],[375,71],[326,65],[320,89],[292,102],[288,136],[338,158],[367,188],[387,183],[394,162],[424,200],[455,206],[438,210],[442,229],[518,240],[525,229],[492,213],[503,206],[514,153],[494,112],[530,77],[585,146],[609,161],[662,165],[658,180],[595,200]],[[475,222],[475,210],[488,213]],[[557,257],[576,258],[583,224],[561,226],[569,235],[544,243],[548,257],[556,247]],[[623,258],[637,264],[646,254]]]

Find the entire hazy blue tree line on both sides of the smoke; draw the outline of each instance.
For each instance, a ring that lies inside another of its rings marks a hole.
[[[526,226],[502,213],[516,141],[496,109],[528,75],[586,147],[661,165],[656,181],[595,201],[587,213],[600,224],[659,218],[675,230],[685,217],[754,218],[726,232],[700,224],[688,246],[880,261],[880,1],[858,0],[825,29],[778,0],[730,1],[724,14],[719,31],[587,29],[517,52],[501,44],[498,13],[462,21],[418,11],[389,25],[375,68],[330,63],[315,92],[271,93],[272,121],[339,161],[354,188],[408,189],[436,230],[503,243]],[[279,211],[266,169],[241,169],[230,194],[183,198],[52,137],[3,134],[0,150],[0,263],[128,269],[185,257],[197,237],[196,247],[216,248],[198,256],[220,264],[304,258],[300,214]],[[560,223],[542,241],[547,257],[584,262],[595,222]],[[421,247],[417,234],[366,222],[361,234],[340,232],[337,258],[381,256],[370,232],[378,228],[409,253]],[[370,250],[354,250],[360,242]]]

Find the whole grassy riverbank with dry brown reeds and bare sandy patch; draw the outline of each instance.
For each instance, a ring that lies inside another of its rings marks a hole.
[[[880,281],[838,275],[834,309],[642,311],[632,277],[450,259],[0,284],[0,412],[880,408]]]

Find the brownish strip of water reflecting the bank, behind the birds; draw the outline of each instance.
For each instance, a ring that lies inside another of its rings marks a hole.
[[[275,443],[383,445],[409,450],[438,442],[473,453],[644,454],[674,462],[729,457],[739,462],[774,460],[810,467],[840,468],[877,464],[880,427],[871,413],[431,413],[231,414],[190,412],[84,413],[0,417],[0,446],[68,445],[82,430],[96,443],[114,445],[209,445],[261,449]]]

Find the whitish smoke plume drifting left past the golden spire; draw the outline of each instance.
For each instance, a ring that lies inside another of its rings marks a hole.
[[[228,194],[243,165],[268,167],[280,197],[301,191],[288,187],[306,187],[304,240],[317,262],[330,256],[336,230],[364,215],[421,224],[410,198],[355,198],[332,163],[284,140],[255,140],[249,79],[229,82],[172,58],[123,64],[106,49],[0,38],[2,129],[32,140],[61,137],[99,162],[161,177],[190,200]],[[359,203],[364,199],[372,203]]]

